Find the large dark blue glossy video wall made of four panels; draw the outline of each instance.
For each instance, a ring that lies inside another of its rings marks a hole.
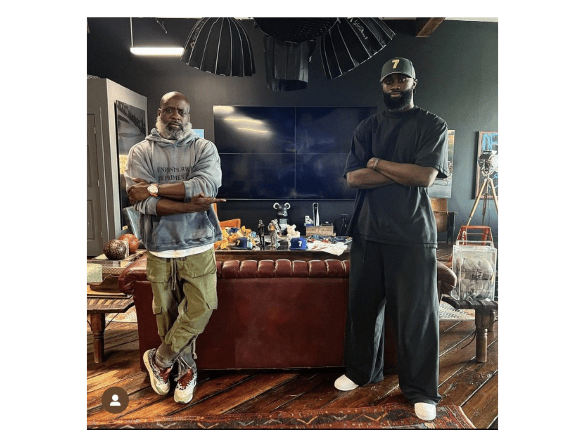
[[[353,200],[343,169],[353,131],[376,107],[214,105],[218,197]]]

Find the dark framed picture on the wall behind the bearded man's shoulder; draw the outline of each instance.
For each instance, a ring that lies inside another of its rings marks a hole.
[[[146,137],[146,111],[116,101],[116,135],[118,139],[118,170],[120,174],[120,214],[122,227],[126,224],[122,209],[130,205],[126,193],[126,163],[130,148]]]

